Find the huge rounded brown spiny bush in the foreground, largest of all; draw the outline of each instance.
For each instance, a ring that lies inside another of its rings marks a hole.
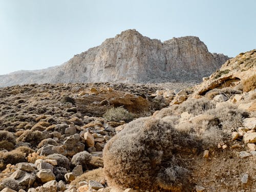
[[[173,123],[153,117],[139,118],[127,124],[104,147],[104,173],[108,184],[119,188],[188,191],[185,163],[172,161],[201,151],[195,135],[176,130]],[[157,182],[155,182],[157,180]]]

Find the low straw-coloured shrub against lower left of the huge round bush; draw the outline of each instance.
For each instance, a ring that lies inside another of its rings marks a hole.
[[[82,175],[76,177],[75,180],[73,180],[70,184],[71,185],[76,185],[80,181],[87,181],[89,182],[90,180],[95,180],[100,182],[101,180],[105,180],[104,174],[103,174],[103,169],[102,168],[97,168],[94,170],[90,170],[89,172],[83,173]]]

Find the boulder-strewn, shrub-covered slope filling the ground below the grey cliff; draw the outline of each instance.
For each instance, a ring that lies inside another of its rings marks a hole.
[[[177,83],[0,88],[0,190],[255,192],[255,53],[183,90],[173,90]],[[240,80],[214,87],[230,75]],[[134,120],[102,117],[113,106]]]

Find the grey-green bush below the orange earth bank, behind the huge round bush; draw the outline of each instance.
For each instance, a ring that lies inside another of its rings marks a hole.
[[[111,108],[103,114],[103,117],[108,121],[125,121],[130,122],[133,120],[134,115],[124,109],[122,106],[118,108]]]

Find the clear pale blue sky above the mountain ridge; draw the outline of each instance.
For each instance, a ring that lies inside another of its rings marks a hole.
[[[60,65],[126,29],[236,56],[256,48],[255,18],[255,0],[0,0],[0,74]]]

